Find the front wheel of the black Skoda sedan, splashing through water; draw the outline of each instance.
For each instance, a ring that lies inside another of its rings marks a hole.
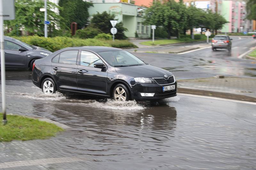
[[[113,98],[116,101],[129,101],[130,92],[124,84],[117,84],[113,90]]]

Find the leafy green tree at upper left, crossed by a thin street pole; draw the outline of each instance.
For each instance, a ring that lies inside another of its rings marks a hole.
[[[5,21],[8,31],[13,34],[20,34],[20,30],[24,30],[28,35],[44,35],[44,12],[39,11],[44,7],[43,0],[15,0],[15,20]],[[55,30],[59,26],[60,16],[50,9],[57,8],[54,3],[47,3],[47,19],[51,21],[49,27]]]

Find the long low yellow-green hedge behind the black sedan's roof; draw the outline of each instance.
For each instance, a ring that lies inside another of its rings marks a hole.
[[[102,39],[79,39],[79,38],[68,38],[68,37],[53,37],[45,38],[38,36],[21,36],[13,37],[19,39],[27,44],[40,46],[49,51],[57,51],[66,47],[73,46],[112,46],[117,48],[128,48],[137,47],[127,40],[102,40]]]

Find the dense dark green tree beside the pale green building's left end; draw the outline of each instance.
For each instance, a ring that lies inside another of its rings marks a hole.
[[[81,29],[88,22],[89,12],[88,8],[92,3],[83,0],[60,0],[59,9],[61,19],[61,28],[70,28],[72,22],[77,23],[77,29]]]

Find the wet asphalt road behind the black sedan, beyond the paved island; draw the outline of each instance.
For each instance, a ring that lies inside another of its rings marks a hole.
[[[232,51],[212,51],[206,48],[186,54],[133,53],[145,62],[171,71],[177,79],[193,79],[216,75],[256,78],[256,60],[238,58],[256,46],[252,38],[232,37]],[[191,43],[192,44],[192,43]],[[197,43],[201,44],[201,43]],[[189,44],[186,44],[189,45]],[[184,46],[184,45],[179,45]],[[161,50],[168,46],[141,48],[142,51]],[[173,46],[170,46],[173,48]],[[129,50],[130,52],[134,50]]]

